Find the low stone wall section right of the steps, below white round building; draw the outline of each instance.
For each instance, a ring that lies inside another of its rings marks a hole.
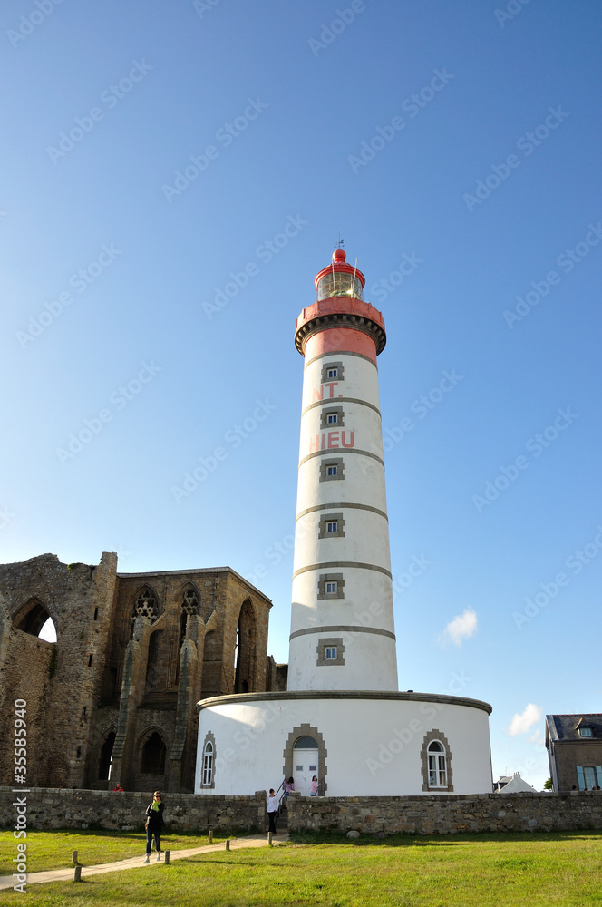
[[[289,832],[457,834],[602,829],[602,791],[567,794],[475,794],[308,797],[288,800]]]

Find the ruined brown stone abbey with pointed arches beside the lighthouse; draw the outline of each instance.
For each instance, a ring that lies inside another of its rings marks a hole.
[[[196,704],[286,688],[271,601],[229,567],[118,573],[53,554],[0,566],[0,716],[27,702],[27,783],[191,792]],[[57,640],[38,634],[52,618]],[[0,784],[12,785],[12,739]]]

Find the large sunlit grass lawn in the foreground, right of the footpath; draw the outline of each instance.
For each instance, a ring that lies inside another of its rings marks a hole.
[[[332,840],[30,885],[27,898],[36,907],[602,907],[602,836],[593,832]],[[3,895],[7,904],[22,897]]]

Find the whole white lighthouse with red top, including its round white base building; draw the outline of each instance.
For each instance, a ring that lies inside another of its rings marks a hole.
[[[490,705],[461,696],[455,675],[437,693],[397,688],[383,316],[343,249],[315,286],[295,332],[304,373],[287,688],[198,703],[195,793],[253,795],[291,775],[299,795],[314,775],[328,797],[490,793]]]

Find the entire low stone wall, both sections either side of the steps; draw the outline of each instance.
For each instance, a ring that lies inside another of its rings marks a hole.
[[[0,787],[0,826],[141,828],[150,794]],[[16,805],[15,805],[16,804]],[[26,812],[24,812],[24,807]],[[24,826],[26,820],[26,826]],[[266,793],[253,796],[166,794],[170,831],[221,834],[264,829]],[[476,794],[387,797],[306,797],[288,800],[291,832],[457,834],[602,829],[602,791],[566,794]]]

